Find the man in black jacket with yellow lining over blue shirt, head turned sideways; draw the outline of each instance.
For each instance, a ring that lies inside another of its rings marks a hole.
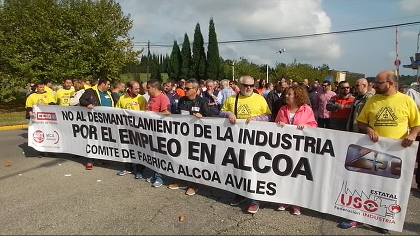
[[[106,78],[99,79],[97,85],[90,89],[86,89],[83,95],[79,99],[80,106],[87,107],[89,109],[95,106],[103,107],[115,107],[118,98],[114,97],[109,89],[110,82]],[[98,160],[97,164],[106,166],[106,162]],[[94,160],[87,158],[86,170],[92,170],[94,167]]]

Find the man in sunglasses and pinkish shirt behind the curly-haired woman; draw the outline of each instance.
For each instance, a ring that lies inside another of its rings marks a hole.
[[[323,81],[322,91],[318,97],[318,127],[329,129],[329,117],[331,112],[326,109],[326,104],[331,97],[335,96],[336,93],[331,91],[331,83],[327,80]]]

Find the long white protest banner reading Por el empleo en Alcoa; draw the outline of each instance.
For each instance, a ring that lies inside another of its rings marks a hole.
[[[250,199],[403,228],[418,142],[107,107],[33,111],[28,143],[38,151],[141,163]]]

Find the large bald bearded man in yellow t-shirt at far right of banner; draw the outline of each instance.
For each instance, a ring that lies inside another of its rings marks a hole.
[[[398,92],[396,82],[397,77],[392,70],[382,71],[376,76],[373,82],[376,95],[367,100],[357,117],[357,126],[375,143],[379,137],[401,139],[401,146],[406,148],[413,144],[419,134],[420,116],[414,100]],[[360,225],[363,224],[349,220],[339,226],[348,229]],[[377,229],[382,234],[388,233],[387,229]]]

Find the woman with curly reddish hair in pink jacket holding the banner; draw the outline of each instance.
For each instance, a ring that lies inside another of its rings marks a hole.
[[[318,123],[315,120],[314,112],[309,104],[308,93],[302,87],[293,86],[287,90],[286,103],[280,108],[277,114],[276,123],[280,126],[285,124],[297,125],[297,128],[302,130],[303,128],[317,127]],[[286,205],[279,204],[277,210],[285,210]],[[300,207],[291,206],[291,213],[293,215],[300,215]]]

